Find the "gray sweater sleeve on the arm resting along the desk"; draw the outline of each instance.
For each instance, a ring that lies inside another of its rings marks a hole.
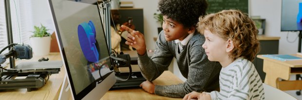
[[[212,91],[218,88],[219,63],[208,61],[208,57],[201,52],[202,45],[195,45],[189,50],[190,64],[187,81],[178,85],[155,86],[155,94],[183,98],[186,94],[197,91]]]

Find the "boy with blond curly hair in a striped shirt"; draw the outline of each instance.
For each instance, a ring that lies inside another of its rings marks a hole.
[[[238,10],[224,10],[200,17],[198,31],[210,61],[222,65],[220,92],[191,92],[183,100],[264,100],[264,88],[254,64],[259,51],[258,30],[251,18]]]

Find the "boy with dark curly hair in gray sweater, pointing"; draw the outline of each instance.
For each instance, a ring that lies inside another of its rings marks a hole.
[[[206,14],[206,0],[160,0],[158,10],[163,14],[163,30],[160,32],[156,49],[151,58],[146,51],[143,34],[128,27],[122,28],[132,35],[126,44],[134,47],[138,54],[138,65],[148,80],[140,86],[156,95],[183,98],[192,91],[213,91],[219,88],[221,65],[211,62],[202,44],[205,37],[196,31],[199,16]],[[160,76],[175,57],[178,68],[187,81],[178,85],[160,86],[151,81]]]

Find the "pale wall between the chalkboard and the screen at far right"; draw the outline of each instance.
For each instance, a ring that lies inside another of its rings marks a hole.
[[[281,3],[282,0],[251,0],[251,16],[261,16],[266,20],[265,35],[280,37],[279,54],[295,54],[298,52],[297,32],[281,32]]]

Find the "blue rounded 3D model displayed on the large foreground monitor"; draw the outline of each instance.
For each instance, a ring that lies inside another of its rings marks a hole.
[[[85,58],[90,62],[98,62],[94,23],[89,21],[89,23],[83,22],[78,25],[77,35]]]

